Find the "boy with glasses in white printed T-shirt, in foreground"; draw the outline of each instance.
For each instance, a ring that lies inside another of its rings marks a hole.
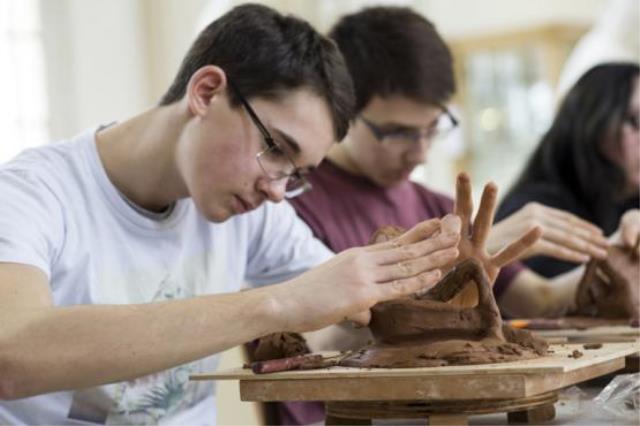
[[[333,256],[278,204],[352,103],[331,41],[246,5],[157,107],[0,167],[0,423],[214,424],[213,386],[188,381],[213,354],[433,285],[456,217]]]

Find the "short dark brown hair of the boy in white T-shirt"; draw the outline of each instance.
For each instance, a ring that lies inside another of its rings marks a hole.
[[[310,89],[327,102],[336,140],[347,133],[354,104],[349,72],[335,43],[306,21],[257,4],[232,9],[196,38],[160,105],[182,99],[191,76],[206,65],[222,68],[247,98]],[[228,95],[238,107],[236,94]]]

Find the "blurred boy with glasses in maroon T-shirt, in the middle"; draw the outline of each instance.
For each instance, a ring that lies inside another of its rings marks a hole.
[[[446,107],[455,91],[453,60],[434,25],[408,8],[374,7],[343,17],[329,36],[340,48],[356,92],[356,114],[347,137],[309,175],[313,190],[291,200],[316,237],[340,252],[366,244],[384,225],[411,227],[454,208],[449,197],[409,180],[424,163],[437,136],[457,124]],[[469,210],[471,207],[469,206]],[[531,214],[531,211],[535,214]],[[538,216],[551,218],[536,221]],[[553,243],[557,223],[580,232]],[[539,206],[496,224],[486,240],[489,254],[535,226],[543,233],[527,255],[545,253],[574,261],[604,256],[600,230],[577,217]],[[463,238],[466,238],[463,236]],[[581,270],[551,282],[520,264],[504,267],[494,285],[501,309],[511,316],[565,312],[573,301]],[[305,335],[311,350],[353,349],[370,337],[348,323],[341,339],[321,330]],[[322,404],[280,404],[282,424],[322,420]]]

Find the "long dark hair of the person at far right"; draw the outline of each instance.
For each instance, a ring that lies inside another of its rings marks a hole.
[[[619,212],[612,206],[627,178],[602,145],[620,143],[639,75],[637,63],[604,63],[580,77],[507,197],[534,183],[557,185],[575,195],[606,233],[614,231]]]

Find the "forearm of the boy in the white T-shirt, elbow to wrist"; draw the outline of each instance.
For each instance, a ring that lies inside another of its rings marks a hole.
[[[278,331],[277,317],[265,289],[143,305],[3,309],[0,382],[18,398],[128,380]]]

